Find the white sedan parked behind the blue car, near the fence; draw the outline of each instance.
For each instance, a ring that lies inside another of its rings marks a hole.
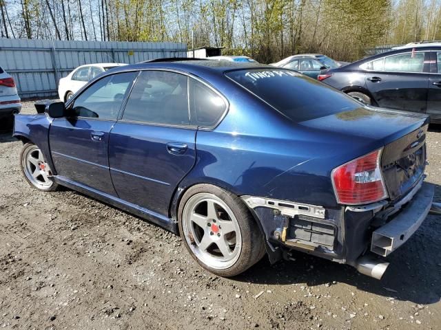
[[[95,63],[88,65],[81,65],[74,69],[68,76],[61,78],[58,85],[58,96],[60,100],[67,101],[72,98],[81,87],[83,87],[89,80],[92,80],[99,74],[119,67],[127,65],[125,63]]]

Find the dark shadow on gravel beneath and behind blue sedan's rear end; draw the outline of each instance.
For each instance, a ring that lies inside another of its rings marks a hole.
[[[435,185],[434,201],[441,201],[441,186]],[[267,258],[232,278],[257,284],[309,286],[346,283],[358,289],[416,304],[441,300],[441,217],[429,215],[418,231],[400,249],[387,257],[390,263],[381,281],[362,275],[349,265],[293,252],[294,261],[271,265]]]

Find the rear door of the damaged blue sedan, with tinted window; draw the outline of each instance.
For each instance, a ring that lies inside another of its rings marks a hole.
[[[110,173],[119,197],[166,216],[196,159],[187,85],[187,76],[176,72],[141,72],[110,133]]]

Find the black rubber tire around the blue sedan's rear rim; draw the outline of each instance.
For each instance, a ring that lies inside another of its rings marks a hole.
[[[198,259],[198,257],[192,251],[192,248],[190,248],[189,246],[189,241],[192,241],[194,239],[190,239],[191,233],[185,233],[183,229],[183,212],[187,201],[189,201],[190,198],[195,197],[196,195],[201,195],[202,193],[214,195],[215,197],[218,197],[220,200],[222,200],[223,203],[225,203],[228,208],[233,212],[234,217],[236,218],[236,221],[240,228],[242,244],[238,259],[233,265],[229,266],[226,269],[217,269],[210,267],[209,265],[203,263],[203,261]],[[266,253],[263,234],[260,232],[260,228],[258,227],[256,220],[252,216],[245,203],[243,203],[243,201],[239,197],[232,194],[231,192],[228,192],[227,190],[224,190],[217,186],[213,186],[211,184],[198,184],[196,186],[192,186],[185,192],[181,199],[181,202],[179,203],[178,225],[179,231],[181,233],[181,238],[189,254],[192,255],[193,259],[195,259],[199,265],[218,276],[230,277],[243,273],[249,267],[252,267],[252,265],[262,259],[262,257]]]

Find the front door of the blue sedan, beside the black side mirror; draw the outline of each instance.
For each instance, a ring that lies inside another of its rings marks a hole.
[[[116,195],[110,178],[108,142],[136,72],[105,76],[68,104],[66,118],[50,126],[50,153],[57,175]]]

